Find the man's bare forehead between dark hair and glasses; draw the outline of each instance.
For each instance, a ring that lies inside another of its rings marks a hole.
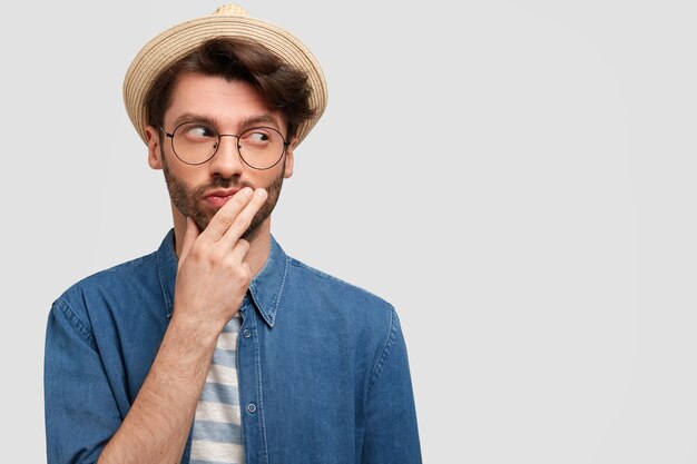
[[[259,118],[275,121],[278,128],[285,124],[283,113],[271,108],[249,82],[200,73],[185,73],[177,79],[165,111],[165,124],[183,122],[183,118],[192,116],[225,128]]]

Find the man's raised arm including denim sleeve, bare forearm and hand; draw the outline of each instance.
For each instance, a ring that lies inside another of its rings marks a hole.
[[[88,316],[56,303],[45,365],[49,464],[181,460],[217,337],[252,277],[245,261],[249,244],[239,237],[265,199],[263,189],[240,190],[200,234],[187,219],[174,315],[122,423],[104,359],[82,323]]]

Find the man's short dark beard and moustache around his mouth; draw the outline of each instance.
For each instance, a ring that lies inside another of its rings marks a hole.
[[[204,195],[212,189],[215,188],[234,188],[236,190],[240,190],[244,187],[255,188],[254,186],[242,182],[238,177],[224,178],[220,176],[214,177],[209,184],[202,185],[198,187],[187,187],[187,185],[177,176],[171,174],[169,167],[167,166],[167,161],[163,156],[163,171],[165,172],[165,182],[167,184],[167,189],[169,190],[169,198],[171,203],[177,207],[177,209],[185,216],[190,217],[196,223],[199,231],[204,231],[205,228],[213,219],[213,216],[217,213],[217,208],[206,207],[203,204]],[[281,187],[283,186],[283,172],[285,170],[285,158],[283,159],[283,164],[281,166],[281,172],[276,178],[274,178],[271,184],[264,187],[268,192],[268,197],[266,201],[259,210],[256,213],[249,227],[242,235],[242,238],[249,240],[253,238],[259,226],[268,218],[278,201],[278,196],[281,195]]]

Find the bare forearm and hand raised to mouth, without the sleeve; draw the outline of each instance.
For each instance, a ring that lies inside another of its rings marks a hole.
[[[178,463],[194,422],[218,335],[252,280],[240,239],[266,200],[243,189],[198,234],[187,219],[175,308],[153,367],[99,463]]]

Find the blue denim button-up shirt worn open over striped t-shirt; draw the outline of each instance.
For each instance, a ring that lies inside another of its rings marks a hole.
[[[121,425],[173,312],[174,233],[150,255],[59,297],[45,355],[49,464],[94,463]],[[271,253],[240,307],[237,372],[247,464],[421,463],[394,308]],[[192,436],[181,463],[189,463]]]

